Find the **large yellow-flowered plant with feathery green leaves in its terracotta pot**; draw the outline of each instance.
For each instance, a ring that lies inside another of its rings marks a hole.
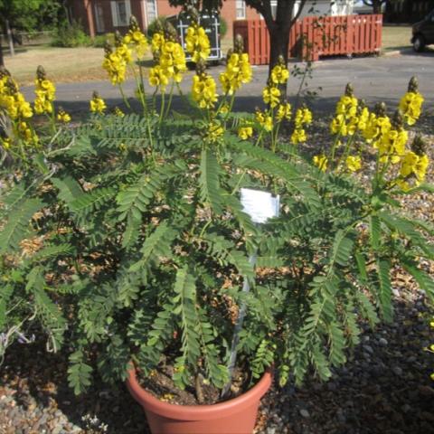
[[[267,109],[231,113],[251,78],[248,58],[238,42],[218,99],[201,61],[209,43],[193,24],[193,107],[179,113],[170,106],[184,52],[169,27],[155,33],[146,83],[142,36],[133,21],[104,60],[120,89],[135,69],[140,113],[107,114],[95,94],[89,121],[64,127],[40,70],[35,108],[50,117],[43,133],[23,127],[27,106],[7,85],[18,117],[9,112],[2,133],[11,175],[0,239],[11,289],[0,306],[25,300],[56,346],[68,326],[71,387],[85,390],[95,367],[104,381],[126,381],[153,432],[248,433],[271,366],[280,384],[311,372],[326,379],[357,344],[359,318],[391,319],[392,267],[404,267],[432,297],[418,260],[432,258],[423,233],[433,229],[401,215],[395,199],[432,190],[423,184],[423,141],[409,148],[405,130],[420,116],[421,96],[412,80],[391,119],[347,87],[333,145],[311,164],[298,147],[312,115],[305,107],[292,113],[283,99],[285,65],[263,91]],[[292,134],[279,139],[288,119]],[[354,173],[363,161],[374,170],[361,187]],[[279,215],[256,219],[241,188],[279,196]],[[29,241],[35,247],[23,260]]]

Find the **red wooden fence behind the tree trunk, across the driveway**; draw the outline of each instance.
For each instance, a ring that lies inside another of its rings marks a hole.
[[[264,20],[233,22],[233,34],[241,34],[250,63],[269,63],[269,32]],[[380,52],[382,14],[307,16],[289,33],[289,56],[317,61],[320,56]]]

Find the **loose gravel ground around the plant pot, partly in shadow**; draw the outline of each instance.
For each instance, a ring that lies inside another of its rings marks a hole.
[[[313,143],[324,137],[322,122],[316,123]],[[432,114],[421,119],[431,162],[433,126]],[[431,163],[431,183],[433,174]],[[432,220],[432,194],[416,194],[403,205],[419,218]],[[422,266],[434,276],[434,264]],[[424,294],[400,270],[392,281],[393,323],[365,329],[362,343],[329,382],[273,388],[261,405],[257,434],[434,433],[434,388],[429,378],[434,356],[424,350],[434,342],[429,307]],[[46,354],[42,344],[14,344],[10,350],[0,371],[0,434],[149,432],[143,411],[122,385],[99,382],[86,395],[75,397],[65,380],[64,354]]]

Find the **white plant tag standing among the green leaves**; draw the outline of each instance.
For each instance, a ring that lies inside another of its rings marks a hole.
[[[272,217],[278,217],[280,197],[271,193],[250,188],[241,188],[242,211],[250,215],[255,223],[265,223]]]

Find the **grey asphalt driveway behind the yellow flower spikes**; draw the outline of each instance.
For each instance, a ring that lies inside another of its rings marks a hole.
[[[302,63],[291,64],[291,68]],[[210,68],[215,77],[223,71],[223,66]],[[188,74],[193,74],[192,71]],[[266,83],[267,66],[253,67],[253,80],[245,85],[237,98],[236,109],[253,110],[261,106],[261,90]],[[335,105],[336,99],[343,93],[347,82],[354,84],[355,93],[368,104],[384,101],[389,107],[397,105],[401,95],[407,89],[410,77],[416,75],[420,80],[420,91],[425,97],[425,110],[434,109],[434,52],[413,54],[404,52],[383,57],[359,57],[354,59],[334,58],[314,63],[312,78],[307,79],[303,92],[316,91],[317,96],[311,101],[313,109],[322,111]],[[184,80],[183,90],[188,92],[191,80]],[[132,96],[135,83],[127,81],[125,90]],[[289,99],[294,99],[300,87],[300,80],[291,77],[288,83]],[[23,88],[27,98],[33,99],[33,87]],[[57,103],[71,112],[87,111],[92,91],[98,90],[109,106],[122,105],[118,88],[109,80],[80,83],[59,83],[57,85]]]

